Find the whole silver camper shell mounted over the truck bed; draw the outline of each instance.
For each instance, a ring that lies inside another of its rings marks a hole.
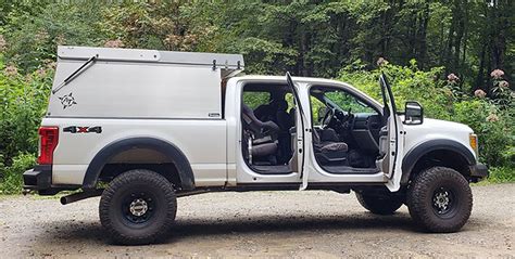
[[[218,119],[221,83],[243,67],[238,54],[59,47],[47,116]]]

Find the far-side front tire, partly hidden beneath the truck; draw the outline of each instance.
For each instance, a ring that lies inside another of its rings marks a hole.
[[[402,197],[389,194],[372,196],[356,192],[356,198],[361,206],[375,215],[392,215],[403,204]]]

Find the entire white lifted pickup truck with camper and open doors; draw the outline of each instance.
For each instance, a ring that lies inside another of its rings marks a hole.
[[[352,190],[373,213],[405,204],[430,232],[465,224],[468,183],[488,176],[469,127],[416,102],[399,112],[384,75],[377,102],[336,80],[236,77],[243,67],[237,54],[59,47],[24,189],[101,195],[123,244],[168,234],[177,197],[219,191]]]

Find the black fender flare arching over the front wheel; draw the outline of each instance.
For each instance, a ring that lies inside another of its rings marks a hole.
[[[452,151],[460,154],[468,166],[476,165],[476,157],[462,143],[454,140],[430,140],[412,147],[402,159],[402,178],[401,184],[406,184],[410,180],[410,174],[415,167],[418,159],[432,151]]]

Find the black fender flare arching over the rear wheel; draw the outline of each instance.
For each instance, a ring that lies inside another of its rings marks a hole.
[[[83,189],[95,189],[104,165],[121,152],[133,148],[149,148],[163,153],[168,158],[171,158],[177,167],[181,189],[194,189],[193,171],[185,154],[179,148],[177,148],[177,146],[153,138],[124,139],[104,146],[102,150],[100,150],[100,152],[97,153],[97,155],[95,155],[93,159],[89,164],[88,169],[86,170],[86,176],[84,177]]]

